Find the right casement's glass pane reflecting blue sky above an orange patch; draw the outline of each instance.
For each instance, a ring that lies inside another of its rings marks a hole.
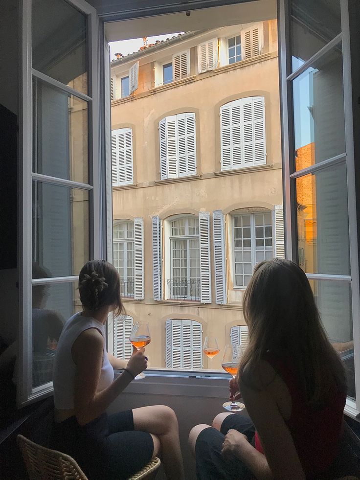
[[[296,170],[345,152],[343,97],[337,45],[293,81]]]

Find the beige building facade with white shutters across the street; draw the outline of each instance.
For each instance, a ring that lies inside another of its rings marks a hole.
[[[284,254],[277,56],[272,20],[112,62],[113,263],[128,316],[117,355],[136,320],[150,324],[151,367],[219,369],[225,343],[246,344],[253,267]]]

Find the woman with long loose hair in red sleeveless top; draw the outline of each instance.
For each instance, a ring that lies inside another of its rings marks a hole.
[[[289,260],[261,262],[243,301],[249,344],[239,396],[248,415],[220,413],[189,436],[200,480],[304,480],[337,455],[345,373],[321,324],[305,273]],[[332,478],[332,477],[331,477]]]

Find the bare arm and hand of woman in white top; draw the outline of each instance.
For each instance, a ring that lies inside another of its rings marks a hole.
[[[72,346],[71,353],[76,364],[74,410],[80,425],[89,423],[103,413],[133,380],[125,371],[108,388],[96,393],[103,351],[104,338],[95,328],[81,333]],[[135,351],[129,361],[128,369],[134,376],[147,367],[143,352],[143,348]]]

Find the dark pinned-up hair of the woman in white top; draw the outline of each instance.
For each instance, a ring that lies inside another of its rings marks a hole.
[[[114,305],[114,315],[122,313],[120,277],[115,267],[105,260],[90,260],[84,265],[79,274],[79,293],[87,310]]]

